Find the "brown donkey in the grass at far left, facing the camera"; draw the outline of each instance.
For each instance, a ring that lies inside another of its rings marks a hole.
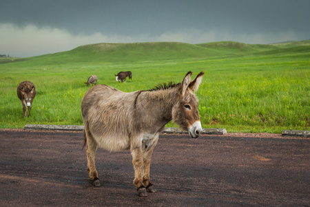
[[[17,97],[21,100],[21,104],[23,105],[23,116],[26,116],[27,108],[28,108],[28,116],[30,116],[30,111],[32,108],[32,101],[36,96],[36,87],[30,81],[23,81],[19,83],[17,86]]]

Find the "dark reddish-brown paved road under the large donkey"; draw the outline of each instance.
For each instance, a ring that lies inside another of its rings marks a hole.
[[[99,149],[86,171],[82,132],[0,130],[0,206],[310,206],[310,139],[161,135],[138,197],[129,151]]]

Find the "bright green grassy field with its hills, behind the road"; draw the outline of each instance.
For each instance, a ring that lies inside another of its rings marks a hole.
[[[131,70],[132,80],[114,74]],[[203,128],[227,132],[310,130],[310,41],[274,45],[236,42],[99,43],[26,59],[0,59],[0,128],[25,124],[82,125],[85,81],[125,92],[157,83],[182,81],[186,72],[204,71],[197,92]],[[32,115],[23,117],[17,86],[37,88]],[[168,126],[175,126],[169,123]]]

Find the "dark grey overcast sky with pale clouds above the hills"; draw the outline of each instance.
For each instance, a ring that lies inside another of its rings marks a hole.
[[[0,0],[0,55],[90,43],[310,39],[310,0]]]

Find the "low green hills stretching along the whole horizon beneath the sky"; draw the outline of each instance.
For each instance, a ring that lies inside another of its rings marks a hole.
[[[246,44],[234,41],[189,44],[180,42],[96,43],[73,50],[37,57],[0,59],[10,68],[66,67],[138,63],[147,61],[187,61],[188,59],[223,59],[249,55],[309,55],[310,41],[276,43],[271,45]],[[192,61],[192,60],[191,60]]]

